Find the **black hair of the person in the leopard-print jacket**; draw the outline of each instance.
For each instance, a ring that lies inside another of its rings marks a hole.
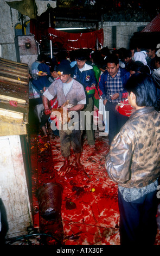
[[[156,84],[148,74],[136,73],[126,83],[127,92],[136,95],[138,107],[155,106],[157,101]]]

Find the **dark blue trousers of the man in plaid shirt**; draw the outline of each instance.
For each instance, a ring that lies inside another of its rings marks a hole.
[[[126,117],[125,115],[122,115],[118,111],[116,111],[116,105],[117,105],[117,103],[111,103],[110,101],[107,101],[107,103],[105,105],[106,111],[109,111],[108,139],[109,139],[110,145],[111,145],[111,142],[113,141],[114,136],[117,135],[117,133],[120,131],[121,127],[129,119],[129,117]]]

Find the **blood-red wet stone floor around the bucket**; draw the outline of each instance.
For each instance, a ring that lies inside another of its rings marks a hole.
[[[99,131],[95,131],[95,148],[89,148],[86,138],[83,144],[81,163],[85,166],[84,171],[76,170],[71,149],[71,165],[65,174],[59,175],[63,165],[60,138],[55,137],[52,131],[43,139],[40,134],[31,135],[35,228],[53,234],[62,245],[120,245],[118,186],[108,178],[105,170],[108,151],[108,137],[99,136]],[[39,211],[37,189],[48,182],[56,182],[63,187],[59,202],[61,217],[57,221],[44,220]],[[55,240],[48,240],[48,245],[54,243]],[[155,245],[160,245],[159,230]]]

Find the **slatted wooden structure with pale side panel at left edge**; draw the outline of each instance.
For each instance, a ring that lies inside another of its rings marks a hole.
[[[0,196],[7,216],[7,237],[27,234],[33,223],[30,170],[26,168],[30,157],[21,139],[28,142],[28,75],[27,64],[0,58]]]

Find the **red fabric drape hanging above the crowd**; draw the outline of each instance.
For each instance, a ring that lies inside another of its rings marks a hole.
[[[79,48],[93,48],[96,45],[97,39],[102,46],[104,42],[103,29],[88,33],[67,33],[58,31],[54,28],[48,28],[47,34],[48,38],[53,42],[61,42],[67,51],[72,51]]]

